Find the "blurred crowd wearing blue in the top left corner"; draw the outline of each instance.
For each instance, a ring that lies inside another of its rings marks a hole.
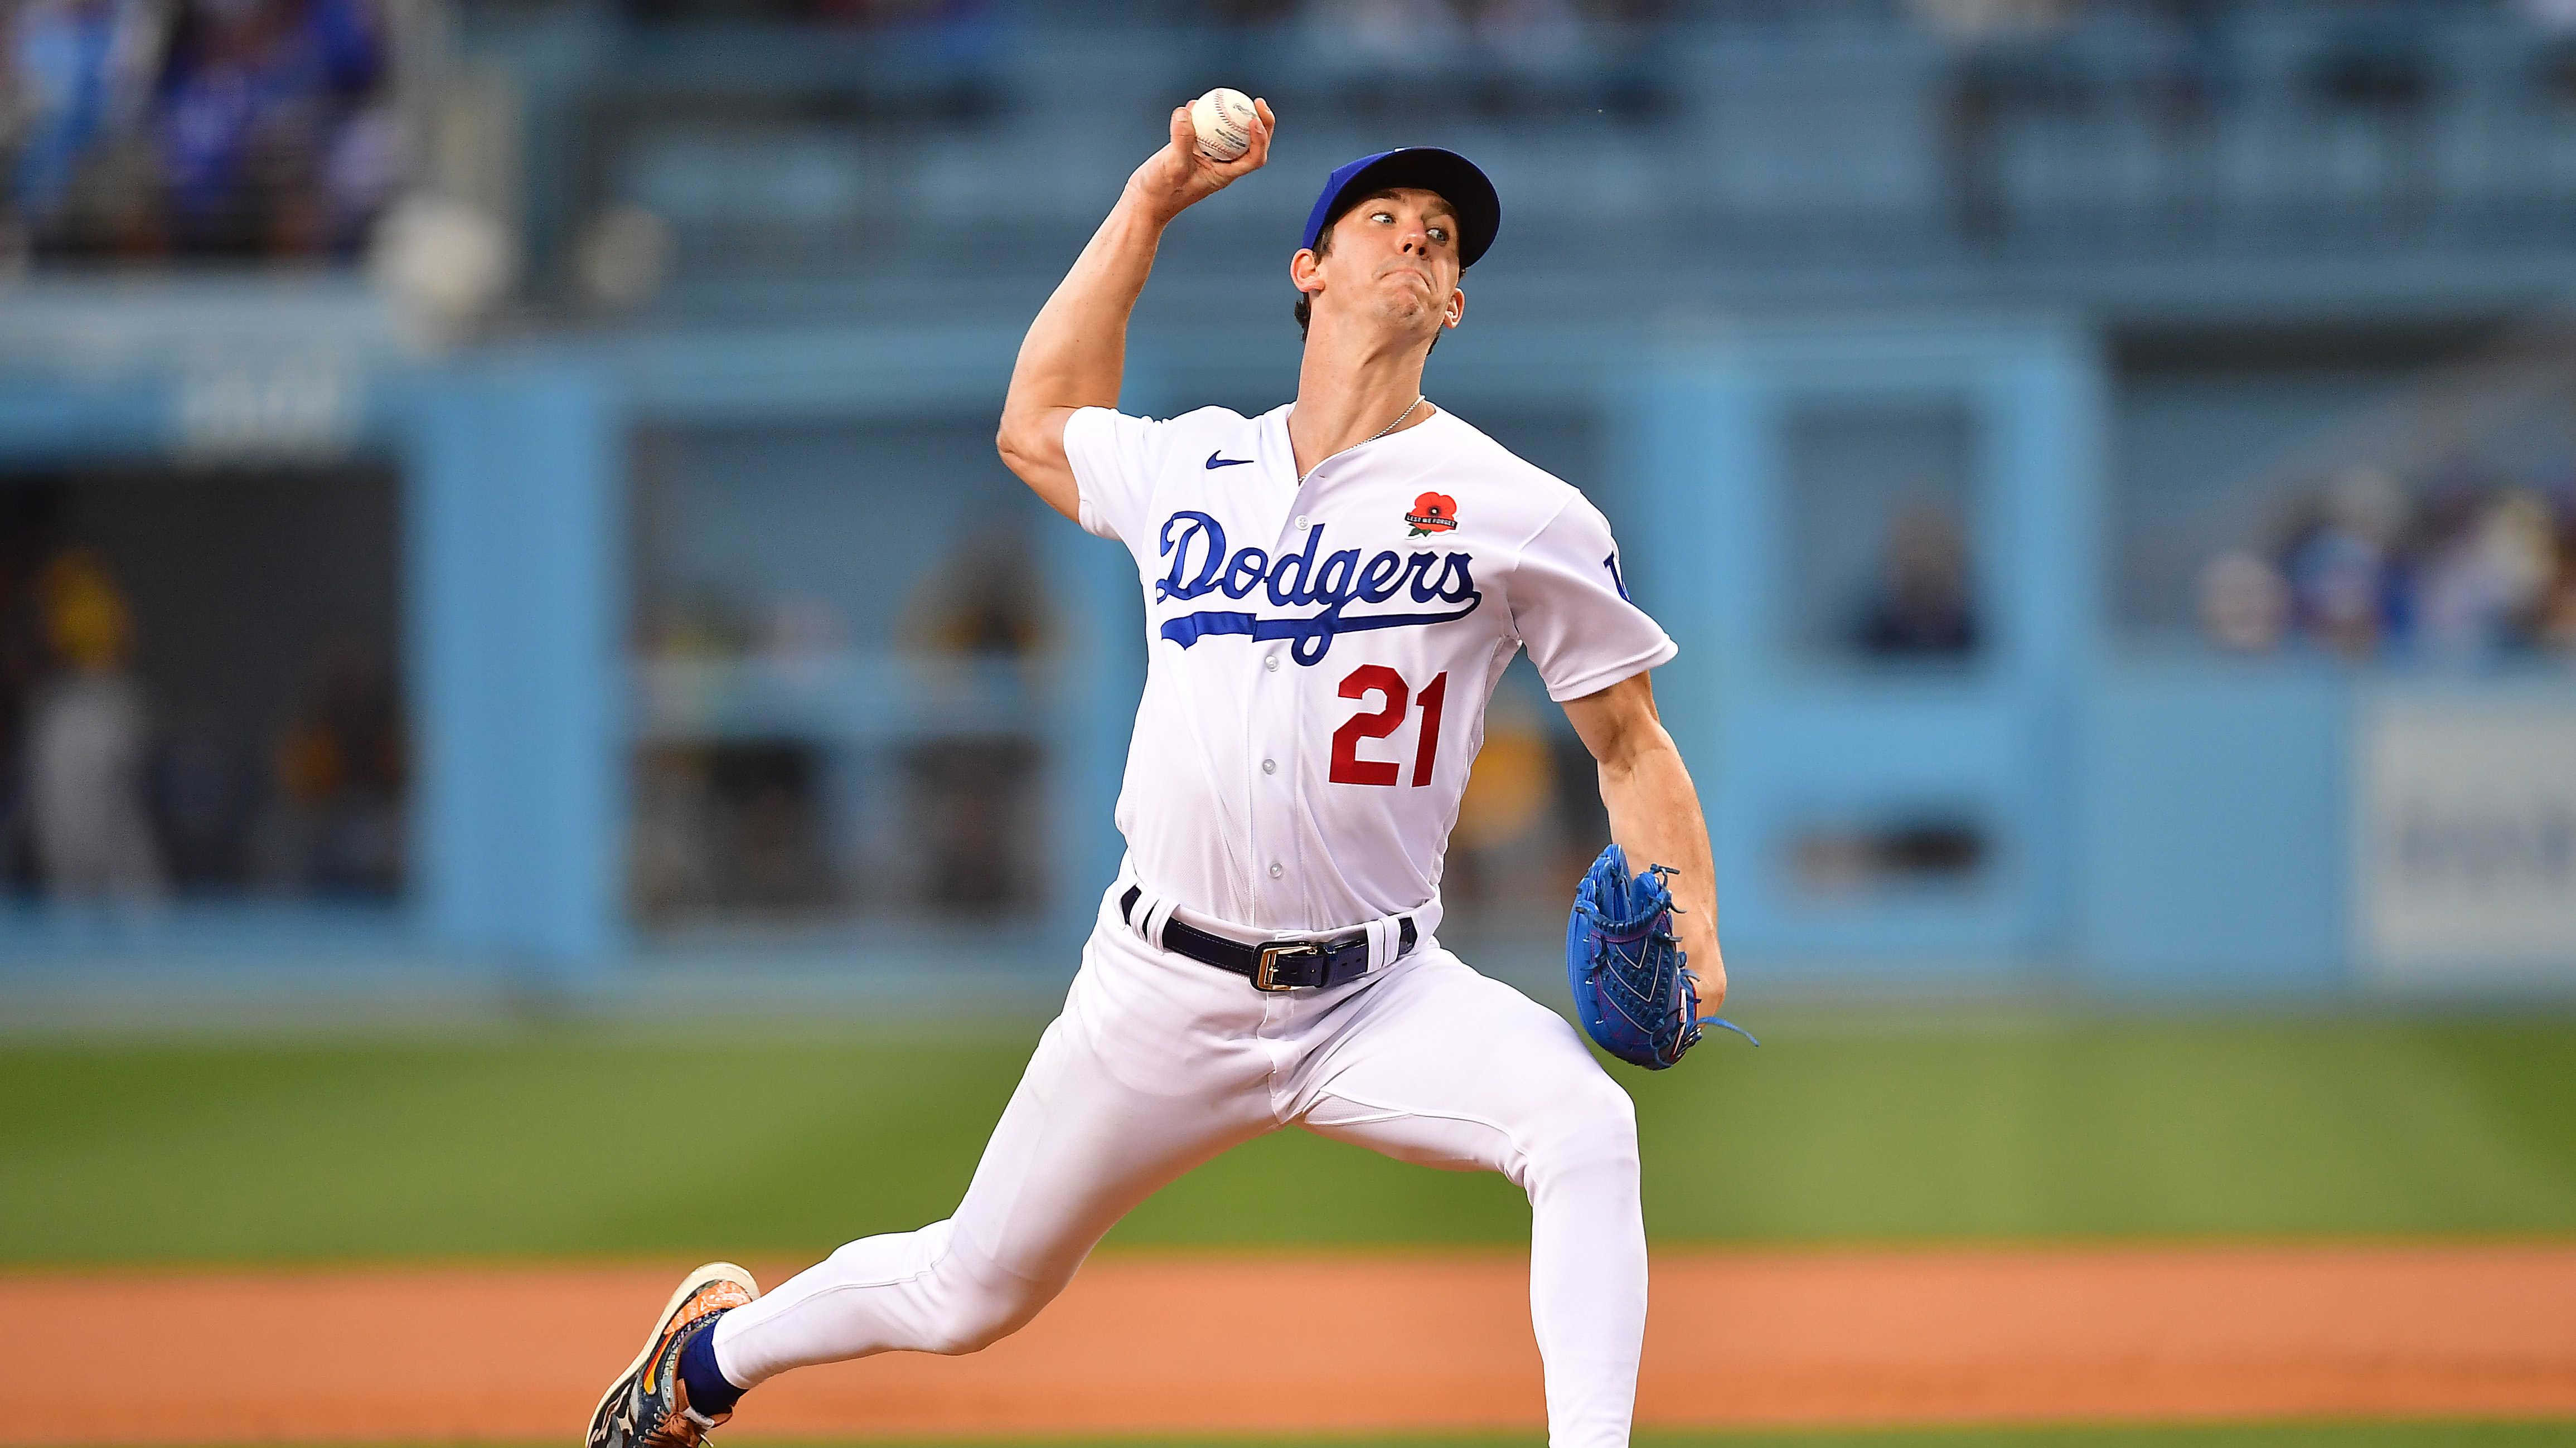
[[[8,206],[39,255],[350,255],[402,139],[374,0],[31,0]]]

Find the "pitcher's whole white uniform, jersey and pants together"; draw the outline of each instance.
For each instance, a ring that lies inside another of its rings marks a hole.
[[[966,1198],[860,1237],[714,1329],[760,1384],[1033,1319],[1162,1183],[1283,1126],[1530,1198],[1553,1448],[1625,1448],[1646,1340],[1636,1108],[1561,1015],[1430,938],[1484,706],[1522,647],[1556,698],[1672,657],[1579,492],[1450,417],[1296,477],[1288,410],[1064,428],[1082,526],[1126,541],[1151,670],[1118,827],[1157,910],[1249,933],[1373,922],[1376,966],[1257,992],[1159,948],[1113,886]],[[1422,940],[1383,958],[1414,912]],[[1151,912],[1144,912],[1151,920]],[[1149,943],[1151,940],[1151,943]],[[1365,997],[1365,1002],[1363,1002]]]

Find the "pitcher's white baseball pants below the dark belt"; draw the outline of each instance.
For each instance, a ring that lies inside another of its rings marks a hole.
[[[716,1324],[752,1386],[871,1353],[974,1353],[1038,1314],[1180,1172],[1280,1126],[1530,1193],[1548,1443],[1628,1443],[1646,1332],[1636,1110],[1564,1018],[1437,940],[1334,989],[1265,995],[1103,904],[1082,971],[956,1216],[863,1237]]]

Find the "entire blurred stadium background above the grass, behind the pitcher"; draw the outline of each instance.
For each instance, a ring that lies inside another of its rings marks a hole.
[[[1059,982],[1144,654],[989,438],[1218,82],[1128,405],[1288,397],[1337,160],[1489,165],[1432,397],[1628,538],[1749,989],[2576,989],[2563,0],[5,15],[26,989]],[[1515,670],[1450,940],[1602,832]]]

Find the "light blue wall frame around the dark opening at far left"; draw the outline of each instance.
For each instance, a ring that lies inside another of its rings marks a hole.
[[[245,374],[258,381],[258,368]],[[309,379],[307,379],[309,381]],[[623,940],[621,415],[595,368],[497,361],[335,379],[260,435],[204,379],[0,386],[0,464],[394,456],[404,490],[412,879],[397,910],[18,907],[0,958],[453,961],[582,979]],[[258,405],[252,402],[252,410]],[[224,446],[209,428],[227,428]]]

